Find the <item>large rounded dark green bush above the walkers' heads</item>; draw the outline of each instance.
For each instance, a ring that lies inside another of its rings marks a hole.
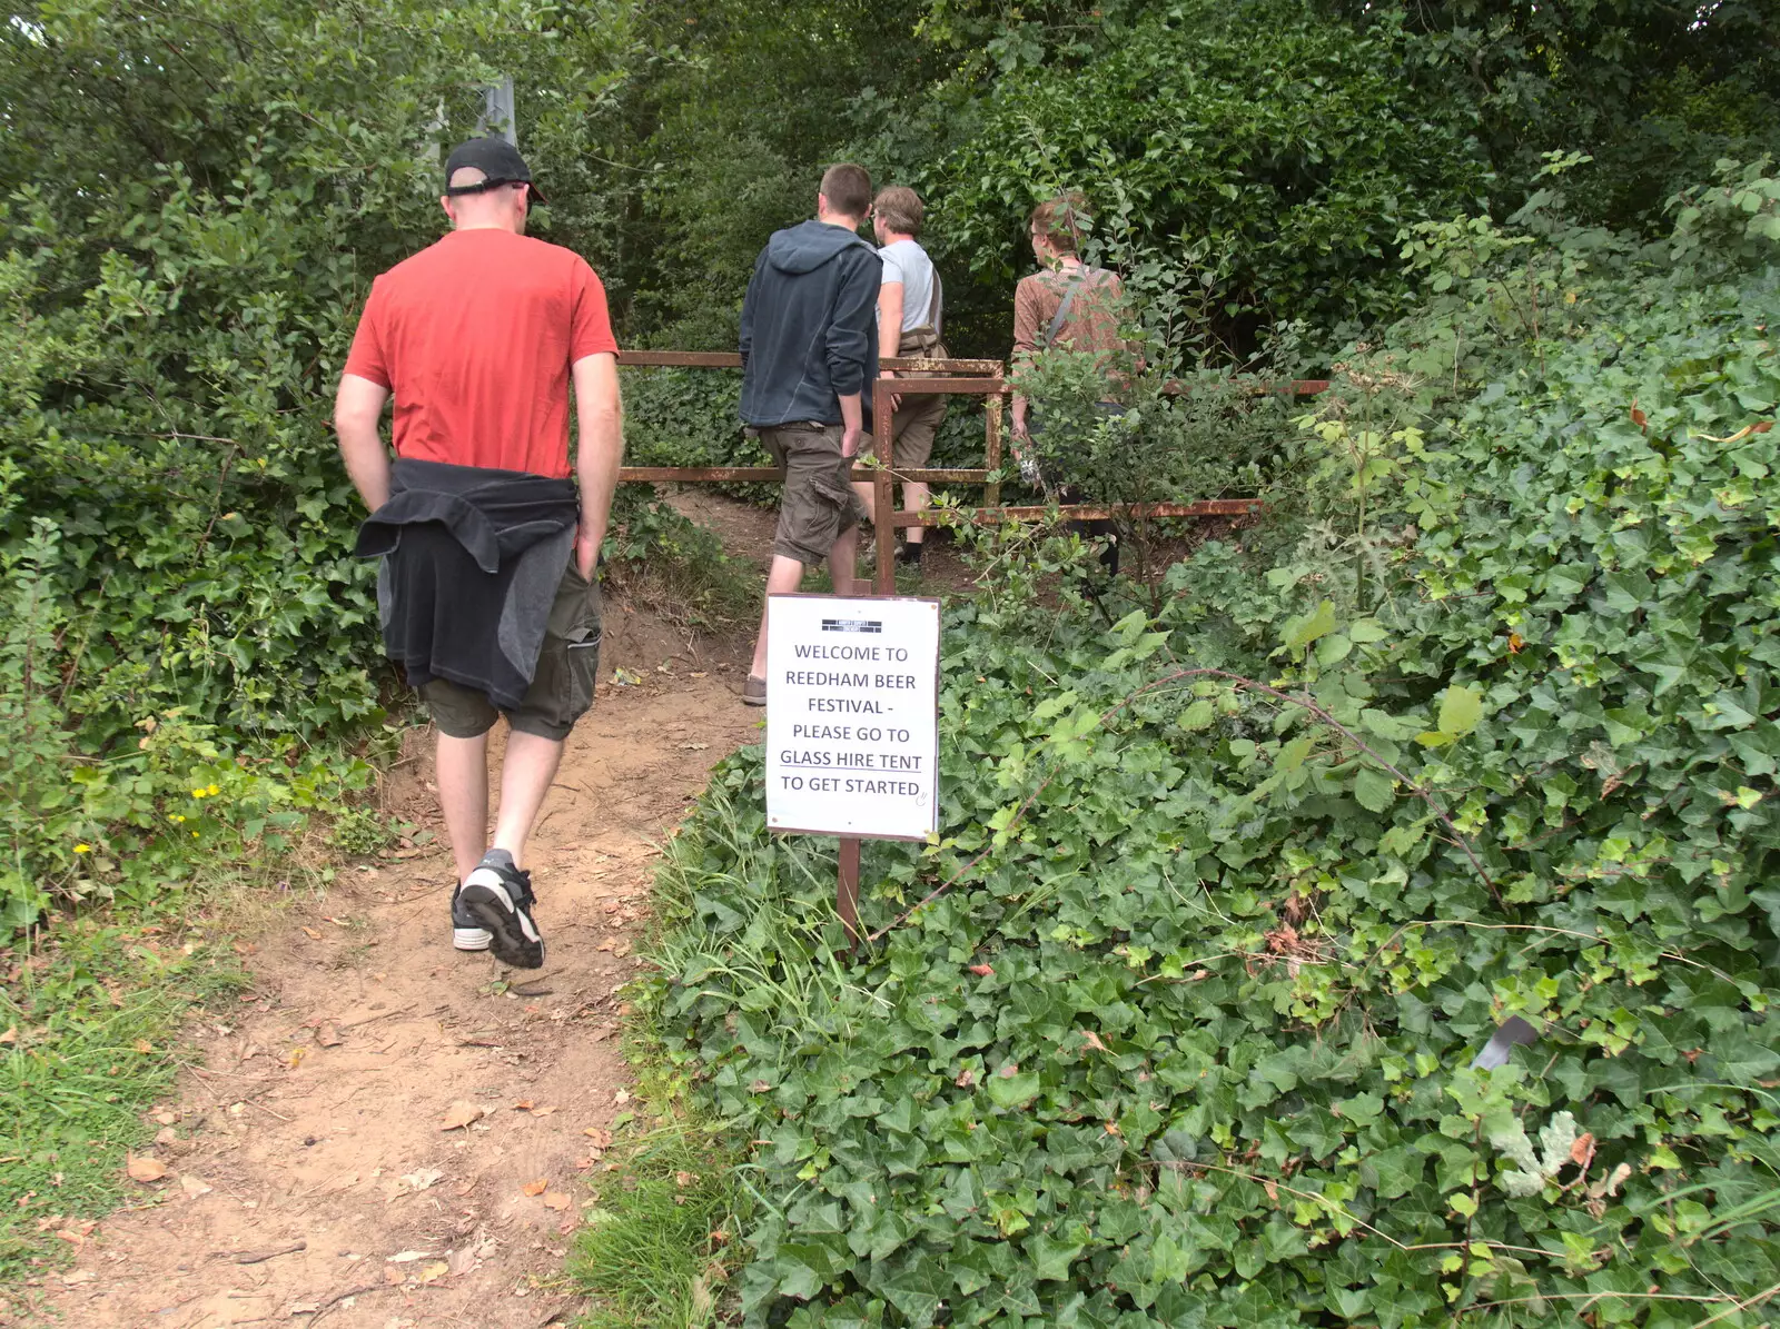
[[[1481,197],[1463,114],[1412,105],[1403,59],[1296,0],[1150,9],[1093,59],[995,80],[970,139],[908,167],[942,253],[997,283],[1032,203],[1086,190],[1155,340],[1221,363],[1257,324],[1394,310],[1399,226]]]

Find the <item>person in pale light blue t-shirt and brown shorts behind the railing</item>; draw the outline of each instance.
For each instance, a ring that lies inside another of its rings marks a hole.
[[[943,292],[940,274],[927,258],[927,251],[915,238],[920,235],[920,196],[906,185],[892,185],[872,201],[872,231],[883,246],[878,256],[883,260],[883,285],[878,288],[878,354],[883,359],[894,356],[922,356],[926,359],[943,359],[945,345],[940,342],[940,318]],[[881,370],[879,377],[894,379],[894,370]],[[890,439],[894,468],[897,471],[920,470],[933,455],[933,439],[945,420],[945,397],[901,393],[890,399],[895,413],[890,418]],[[870,452],[870,447],[862,447]],[[872,503],[872,486],[856,484],[867,511]],[[902,484],[902,511],[920,512],[927,507],[927,486]],[[920,568],[922,527],[908,527],[904,544],[897,555],[904,564]],[[890,532],[879,530],[878,539],[892,539]]]

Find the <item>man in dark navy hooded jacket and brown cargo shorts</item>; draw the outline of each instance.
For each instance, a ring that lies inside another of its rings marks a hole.
[[[840,164],[822,174],[815,221],[774,231],[742,301],[742,423],[785,468],[767,594],[803,584],[829,560],[835,592],[853,594],[865,509],[853,493],[853,455],[865,436],[878,377],[878,286],[883,260],[860,237],[872,178]],[[767,701],[767,621],[742,701]]]

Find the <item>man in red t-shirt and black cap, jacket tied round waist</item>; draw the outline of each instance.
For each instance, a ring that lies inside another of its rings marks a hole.
[[[347,473],[383,555],[384,646],[438,724],[457,866],[452,941],[543,964],[525,842],[593,703],[595,582],[623,452],[618,343],[578,254],[525,237],[530,171],[502,139],[445,165],[452,230],[372,283],[335,402]],[[577,487],[568,402],[575,384]],[[379,436],[393,395],[392,464]],[[488,731],[511,726],[488,836]]]

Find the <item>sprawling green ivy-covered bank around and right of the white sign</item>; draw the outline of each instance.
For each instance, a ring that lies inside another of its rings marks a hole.
[[[1780,270],[1524,222],[1412,253],[1271,575],[951,612],[881,948],[719,772],[651,1002],[758,1142],[751,1324],[1766,1320]]]

